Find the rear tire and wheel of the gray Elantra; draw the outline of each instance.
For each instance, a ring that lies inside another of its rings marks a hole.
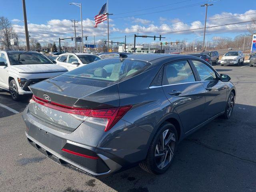
[[[167,142],[167,144],[161,145],[162,140],[164,140],[163,143]],[[147,157],[140,163],[140,168],[151,174],[163,174],[166,172],[174,159],[177,143],[178,134],[175,126],[165,122],[154,136],[149,146]],[[162,148],[162,146],[164,147]]]

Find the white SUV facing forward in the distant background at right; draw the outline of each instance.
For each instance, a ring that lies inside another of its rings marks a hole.
[[[220,65],[237,65],[244,63],[244,54],[242,51],[229,51],[220,60]]]

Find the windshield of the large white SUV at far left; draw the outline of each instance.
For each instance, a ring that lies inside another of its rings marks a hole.
[[[52,64],[52,62],[38,52],[8,52],[11,65]]]

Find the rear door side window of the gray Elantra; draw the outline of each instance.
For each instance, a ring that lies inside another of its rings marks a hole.
[[[194,82],[195,77],[187,60],[166,65],[163,85]]]

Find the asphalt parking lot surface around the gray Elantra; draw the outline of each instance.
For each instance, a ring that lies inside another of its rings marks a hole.
[[[21,114],[0,106],[0,191],[256,191],[256,67],[214,68],[236,86],[232,118],[217,118],[183,140],[170,169],[158,176],[134,167],[98,180],[60,166],[28,144]],[[29,100],[13,102],[0,92],[0,104],[17,112]]]

